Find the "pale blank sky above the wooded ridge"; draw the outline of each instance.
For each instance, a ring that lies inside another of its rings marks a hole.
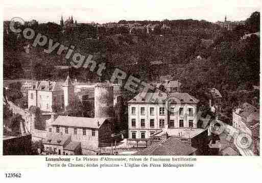
[[[260,11],[261,0],[4,0],[4,20],[21,17],[25,21],[60,23],[72,16],[79,23],[106,23],[119,20],[197,19],[216,22],[246,20]]]

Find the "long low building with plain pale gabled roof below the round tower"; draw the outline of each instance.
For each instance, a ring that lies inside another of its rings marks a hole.
[[[82,149],[97,149],[103,143],[111,143],[114,118],[84,118],[58,116],[49,133],[70,135],[71,140],[81,142]]]

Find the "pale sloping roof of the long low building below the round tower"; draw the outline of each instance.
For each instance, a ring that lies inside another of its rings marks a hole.
[[[84,118],[74,116],[58,116],[52,125],[100,128],[109,118]]]

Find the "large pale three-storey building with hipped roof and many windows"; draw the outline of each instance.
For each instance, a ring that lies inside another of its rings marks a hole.
[[[167,98],[161,102],[163,96]],[[168,128],[197,128],[198,102],[188,93],[139,93],[128,101],[129,138],[149,138]]]

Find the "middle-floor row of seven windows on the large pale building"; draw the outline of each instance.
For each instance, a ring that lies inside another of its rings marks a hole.
[[[136,121],[135,119],[131,119],[131,126],[136,127]],[[140,121],[140,127],[145,127],[145,119],[141,119]],[[193,127],[193,120],[188,120],[188,126]],[[150,119],[150,127],[155,127],[155,120]],[[164,119],[159,119],[159,127],[163,128],[164,127]],[[175,121],[170,120],[169,127],[175,127]],[[184,120],[180,119],[179,120],[179,127],[184,127]]]

